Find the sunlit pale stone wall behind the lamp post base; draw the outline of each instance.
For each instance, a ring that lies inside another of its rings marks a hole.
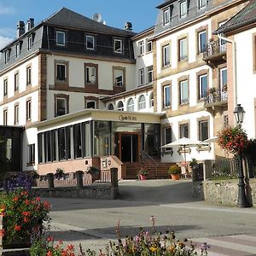
[[[236,206],[237,183],[237,179],[193,182],[192,194],[212,204]],[[247,183],[247,200],[251,205],[256,206],[256,178],[251,178]]]

